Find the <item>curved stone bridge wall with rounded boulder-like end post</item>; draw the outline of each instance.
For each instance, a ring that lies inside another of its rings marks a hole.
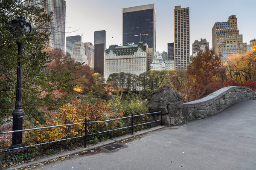
[[[221,88],[208,96],[192,102],[181,102],[177,91],[162,87],[148,97],[149,111],[162,111],[163,123],[174,125],[193,119],[203,119],[223,111],[230,105],[244,100],[256,100],[256,93],[244,86]]]

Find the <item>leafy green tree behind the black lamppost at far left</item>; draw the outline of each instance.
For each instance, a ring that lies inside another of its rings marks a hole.
[[[33,14],[36,17],[29,18]],[[23,16],[32,24],[32,32],[20,30],[19,34],[13,30],[11,20]],[[23,55],[23,79],[22,79],[22,102],[26,118],[41,115],[38,111],[38,99],[41,90],[35,87],[35,83],[44,84],[44,69],[48,62],[45,52],[45,42],[49,40],[49,32],[45,29],[49,24],[50,16],[43,8],[23,6],[20,0],[1,0],[0,2],[0,125],[4,120],[12,117],[15,103],[15,87],[17,74],[17,44],[22,44]],[[34,24],[38,23],[38,24]],[[35,96],[35,99],[34,99]],[[34,106],[34,107],[31,107]],[[37,108],[37,109],[35,109]]]

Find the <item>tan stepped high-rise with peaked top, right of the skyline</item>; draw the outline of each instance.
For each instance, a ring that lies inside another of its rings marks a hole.
[[[236,15],[228,17],[227,22],[216,22],[212,27],[212,48],[224,61],[233,53],[246,54],[247,45],[239,34]]]

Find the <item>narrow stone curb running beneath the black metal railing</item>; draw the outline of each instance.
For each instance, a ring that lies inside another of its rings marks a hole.
[[[150,129],[146,129],[146,130],[141,130],[141,131],[135,132],[133,135],[132,134],[128,134],[128,135],[119,136],[119,137],[116,137],[116,138],[113,138],[113,139],[108,139],[106,141],[99,142],[99,143],[97,143],[95,145],[91,145],[89,147],[82,147],[82,148],[79,148],[79,149],[76,149],[76,150],[70,150],[70,151],[65,151],[63,153],[57,153],[55,155],[46,156],[46,157],[38,159],[36,161],[31,161],[31,162],[24,163],[24,164],[15,166],[15,167],[6,168],[5,170],[20,169],[20,168],[23,168],[23,167],[29,167],[31,165],[39,164],[39,163],[46,162],[48,160],[56,159],[56,158],[59,158],[59,157],[68,156],[68,155],[74,155],[74,154],[77,154],[77,153],[81,153],[83,151],[87,151],[87,150],[95,149],[95,148],[102,147],[102,146],[105,146],[105,145],[108,145],[108,144],[113,144],[113,143],[116,143],[116,142],[120,142],[122,140],[129,139],[129,138],[134,137],[134,136],[142,135],[142,134],[154,131],[154,130],[159,130],[159,129],[162,129],[164,127],[166,127],[166,126],[152,127]]]

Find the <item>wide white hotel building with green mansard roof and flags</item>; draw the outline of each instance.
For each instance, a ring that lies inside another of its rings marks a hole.
[[[139,75],[146,71],[146,51],[148,45],[140,42],[138,45],[111,45],[105,51],[104,79],[113,73],[132,73]]]

